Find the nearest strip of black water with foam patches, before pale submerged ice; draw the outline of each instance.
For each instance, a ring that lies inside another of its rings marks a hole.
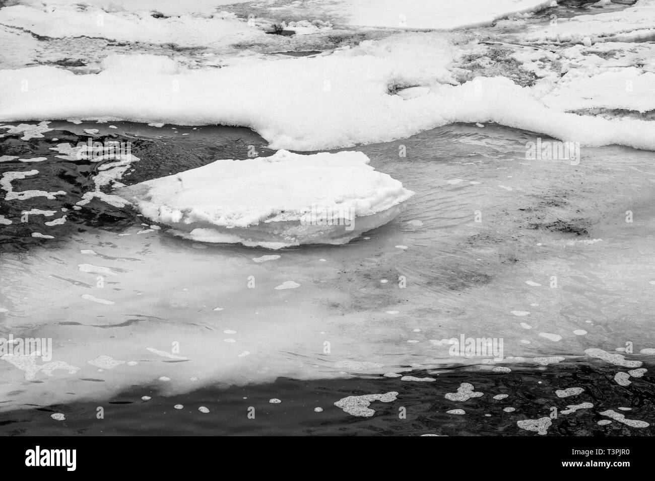
[[[646,365],[645,367],[649,367]],[[516,368],[517,366],[513,366]],[[133,386],[104,402],[75,402],[52,406],[26,406],[22,411],[0,414],[0,433],[20,435],[440,435],[493,436],[534,435],[517,426],[523,419],[552,416],[548,436],[652,436],[654,427],[628,427],[599,412],[614,410],[627,419],[654,419],[655,383],[646,374],[627,387],[614,382],[614,372],[601,363],[567,363],[556,368],[526,369],[511,374],[489,374],[462,369],[413,372],[417,377],[432,376],[435,382],[402,382],[399,378],[377,376],[346,380],[295,380],[278,378],[273,383],[242,387],[212,385],[174,397],[162,396],[155,386]],[[409,374],[409,373],[408,373]],[[460,383],[472,383],[484,395],[456,402],[445,399]],[[557,389],[582,387],[584,393],[559,398]],[[349,416],[334,406],[335,400],[351,395],[398,392],[393,402],[373,401],[370,418]],[[508,397],[493,399],[498,394]],[[150,396],[141,401],[141,396]],[[271,404],[276,398],[280,404]],[[591,402],[561,414],[571,404]],[[176,409],[176,404],[183,408]],[[198,411],[200,406],[208,413]],[[103,418],[98,418],[98,408]],[[322,412],[314,408],[322,407]],[[505,412],[504,408],[515,408]],[[553,410],[557,408],[557,411]],[[629,408],[619,410],[618,408]],[[447,414],[461,408],[465,415]],[[63,413],[64,421],[53,421],[50,414]],[[254,418],[252,417],[254,413]],[[250,417],[249,417],[250,414]]]

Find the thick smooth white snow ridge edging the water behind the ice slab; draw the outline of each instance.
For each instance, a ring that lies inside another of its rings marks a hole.
[[[180,67],[176,74],[151,58],[147,69],[129,58],[110,59],[108,68],[90,75],[52,66],[2,70],[0,89],[7,95],[0,98],[0,120],[247,126],[273,149],[300,151],[392,141],[451,122],[493,121],[582,145],[655,149],[652,122],[549,109],[533,90],[502,77],[448,84],[455,48],[443,35],[411,33],[329,56],[246,60],[217,70]],[[406,99],[394,94],[417,85],[430,90]],[[633,96],[643,98],[637,90]]]

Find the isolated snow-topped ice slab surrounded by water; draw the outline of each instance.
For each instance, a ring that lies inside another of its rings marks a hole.
[[[414,192],[362,152],[217,160],[117,192],[196,241],[280,249],[343,244],[391,221]]]

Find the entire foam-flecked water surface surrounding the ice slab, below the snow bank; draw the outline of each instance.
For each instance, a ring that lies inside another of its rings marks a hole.
[[[52,200],[6,201],[0,191],[0,214],[14,221],[0,226],[0,305],[7,309],[0,312],[0,325],[15,336],[53,338],[54,359],[81,368],[72,376],[56,371],[52,378],[26,380],[1,363],[3,433],[536,435],[519,429],[517,421],[549,416],[552,406],[591,402],[593,408],[553,419],[548,434],[652,434],[652,426],[597,425],[608,419],[599,414],[608,409],[652,425],[650,372],[622,387],[614,376],[626,368],[584,354],[589,347],[612,352],[631,342],[635,355],[628,359],[649,368],[650,358],[639,350],[655,346],[647,315],[655,308],[652,152],[604,147],[583,149],[579,166],[527,162],[525,143],[535,134],[465,124],[358,147],[376,169],[417,192],[402,215],[348,245],[284,249],[280,260],[253,266],[253,257],[272,252],[200,245],[163,231],[136,234],[147,220],[98,199],[74,210],[111,160],[62,160],[49,148],[86,142],[84,128],[100,130],[96,141],[129,141],[140,158],[122,179],[130,184],[217,158],[246,158],[252,147],[271,154],[261,137],[243,128],[108,125],[52,122],[55,130],[43,138],[0,138],[0,155],[47,157],[0,163],[0,174],[39,171],[14,181],[15,190],[66,192]],[[406,156],[398,155],[401,147]],[[67,222],[46,226],[53,217],[32,215],[21,223],[24,209],[66,209]],[[626,209],[635,211],[635,223],[625,223]],[[475,211],[483,223],[474,223]],[[31,232],[54,239],[33,238]],[[82,255],[81,249],[96,255]],[[78,270],[82,262],[119,275],[98,291],[95,278]],[[250,274],[263,287],[246,289]],[[400,275],[407,277],[407,289],[394,285]],[[556,288],[548,287],[553,275]],[[289,279],[302,289],[272,291]],[[540,287],[527,287],[527,279]],[[83,293],[115,304],[86,302]],[[215,306],[225,310],[214,312]],[[513,310],[531,313],[515,317]],[[238,331],[229,334],[236,344],[223,342],[225,329]],[[572,333],[580,329],[586,334]],[[540,332],[562,339],[552,342]],[[503,338],[506,357],[525,359],[502,363],[512,372],[492,372],[491,365],[454,359],[430,342],[460,334]],[[189,361],[145,353],[151,346],[165,350],[172,340]],[[330,355],[322,351],[326,340],[333,346]],[[237,359],[244,347],[251,354]],[[87,361],[98,355],[139,364],[97,370]],[[550,355],[567,361],[542,368],[531,362]],[[337,361],[380,367],[358,371]],[[436,381],[380,375],[390,371]],[[157,382],[164,375],[172,382]],[[189,376],[200,380],[189,382]],[[483,397],[445,399],[463,382]],[[555,395],[567,387],[584,393]],[[389,391],[398,391],[398,399],[373,402],[373,418],[355,418],[333,405],[349,395]],[[509,397],[492,399],[502,393]],[[152,399],[143,402],[143,395]],[[269,404],[272,398],[282,403]],[[104,419],[96,418],[98,406]],[[198,412],[199,406],[210,412]],[[250,406],[255,419],[248,419]],[[515,411],[504,412],[506,407]],[[406,418],[399,418],[400,408]],[[466,414],[446,413],[455,408]],[[53,412],[66,420],[54,421]]]

